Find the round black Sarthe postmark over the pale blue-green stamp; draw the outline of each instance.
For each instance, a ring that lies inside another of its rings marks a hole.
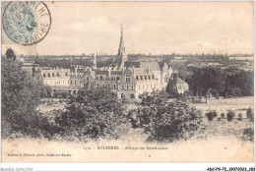
[[[43,2],[14,1],[5,7],[2,22],[6,34],[12,41],[32,45],[47,35],[51,26],[51,16]]]

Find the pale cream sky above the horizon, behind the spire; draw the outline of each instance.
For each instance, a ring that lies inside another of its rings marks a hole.
[[[2,52],[117,54],[123,26],[127,54],[253,53],[253,2],[45,3],[46,37],[32,46],[3,44]]]

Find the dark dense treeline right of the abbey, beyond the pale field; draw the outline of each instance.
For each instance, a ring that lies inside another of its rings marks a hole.
[[[186,82],[194,95],[253,96],[254,75],[238,68],[192,68]]]

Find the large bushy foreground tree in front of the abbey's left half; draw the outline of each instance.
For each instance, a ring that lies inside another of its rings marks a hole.
[[[55,122],[65,136],[116,139],[113,131],[126,117],[115,92],[107,87],[84,87],[77,96],[68,97],[66,110],[56,115]]]

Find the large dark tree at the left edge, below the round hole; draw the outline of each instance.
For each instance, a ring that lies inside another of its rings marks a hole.
[[[23,70],[22,64],[16,61],[2,59],[2,124],[10,127],[6,137],[12,133],[29,134],[38,137],[39,124],[45,124],[35,111],[39,103],[42,86],[33,82],[32,78]],[[5,126],[2,126],[5,128]]]

